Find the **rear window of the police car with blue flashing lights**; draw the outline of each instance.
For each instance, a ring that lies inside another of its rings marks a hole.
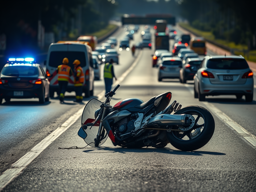
[[[27,76],[38,76],[39,73],[38,73],[37,67],[9,66],[9,67],[3,68],[2,74],[6,76],[27,77]]]

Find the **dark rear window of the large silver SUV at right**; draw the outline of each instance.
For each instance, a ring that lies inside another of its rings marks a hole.
[[[247,69],[249,68],[245,59],[209,59],[206,65],[210,69]]]

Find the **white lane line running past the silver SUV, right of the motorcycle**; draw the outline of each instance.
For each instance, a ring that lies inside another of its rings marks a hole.
[[[254,85],[255,86],[255,85]],[[194,94],[194,89],[189,86],[188,84],[185,84],[185,87],[188,88],[190,93]],[[233,121],[229,118],[228,115],[223,113],[221,110],[219,110],[217,107],[215,107],[213,104],[208,102],[203,102],[207,108],[212,111],[221,121],[223,121],[230,129],[236,131],[241,137],[243,137],[247,142],[252,144],[252,146],[256,146],[256,137],[255,135],[251,134],[249,131],[245,130],[241,125],[239,125],[237,122]],[[245,136],[246,134],[246,136]]]

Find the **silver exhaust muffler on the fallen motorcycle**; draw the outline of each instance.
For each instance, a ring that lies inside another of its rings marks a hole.
[[[161,114],[156,115],[147,123],[147,127],[158,127],[158,126],[166,126],[166,125],[189,125],[189,115],[181,114],[181,115],[172,115],[172,114]]]

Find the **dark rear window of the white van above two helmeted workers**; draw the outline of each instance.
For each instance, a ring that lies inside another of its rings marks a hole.
[[[82,51],[51,51],[49,58],[50,67],[58,67],[62,64],[63,58],[67,57],[69,60],[68,66],[73,68],[74,60],[78,59],[80,61],[80,66],[85,67],[86,59],[85,54]]]

